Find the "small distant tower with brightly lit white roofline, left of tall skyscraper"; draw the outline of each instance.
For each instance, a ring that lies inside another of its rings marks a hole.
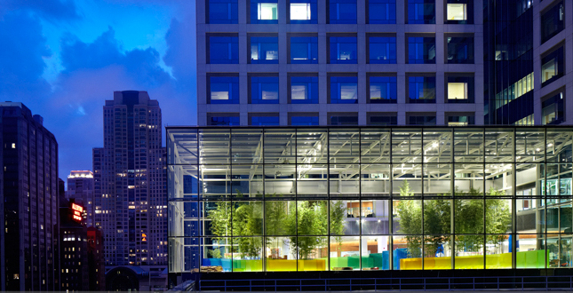
[[[90,170],[73,170],[68,175],[66,199],[74,199],[84,207],[84,223],[93,226],[93,173]]]

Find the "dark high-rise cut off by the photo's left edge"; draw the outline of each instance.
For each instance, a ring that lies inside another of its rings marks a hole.
[[[59,290],[58,142],[22,103],[0,103],[0,283]]]

